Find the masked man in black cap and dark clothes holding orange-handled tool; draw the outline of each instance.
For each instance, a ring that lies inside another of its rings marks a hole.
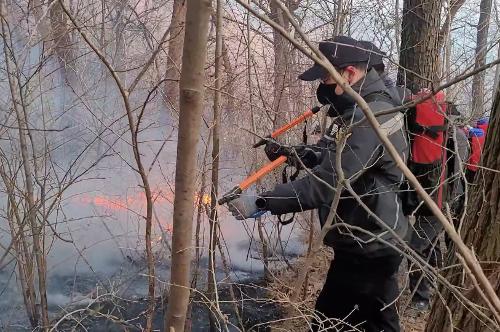
[[[373,112],[399,104],[376,70],[369,64],[369,53],[363,44],[338,36],[319,43],[319,50],[337,69],[351,88],[369,104]],[[339,321],[368,332],[400,331],[395,300],[398,296],[396,274],[401,255],[395,249],[407,239],[409,226],[397,194],[403,175],[386,152],[375,131],[368,124],[350,126],[363,118],[363,113],[328,72],[318,64],[299,76],[304,81],[320,80],[317,96],[330,104],[329,113],[336,116],[320,149],[312,149],[311,173],[259,195],[241,195],[230,203],[237,219],[252,218],[270,211],[274,215],[317,209],[323,225],[337,186],[335,170],[337,128],[351,127],[341,160],[345,177],[361,201],[385,225],[363,209],[356,198],[342,189],[336,211],[337,223],[327,233],[325,244],[334,249],[334,259],[327,279],[316,301],[318,318],[313,330],[325,329]],[[380,123],[393,121],[389,139],[402,158],[407,144],[402,123],[394,114],[378,117]],[[278,151],[279,152],[279,151]],[[389,232],[389,227],[394,233]],[[396,236],[395,236],[396,235]],[[347,325],[346,325],[347,326]],[[352,328],[348,328],[352,329]]]

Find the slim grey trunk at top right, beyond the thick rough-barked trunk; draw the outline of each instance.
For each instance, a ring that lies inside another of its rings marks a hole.
[[[479,22],[477,23],[476,60],[474,69],[486,64],[488,30],[490,27],[492,0],[481,0]],[[472,78],[472,117],[478,118],[484,113],[484,75],[481,71]]]

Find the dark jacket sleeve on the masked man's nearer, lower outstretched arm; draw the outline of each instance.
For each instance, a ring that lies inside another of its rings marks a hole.
[[[265,208],[272,214],[284,214],[329,205],[337,182],[335,145],[324,153],[321,164],[312,170],[312,174],[264,192],[261,196],[266,200]],[[354,182],[382,153],[382,145],[369,125],[353,128],[341,157],[345,177]]]

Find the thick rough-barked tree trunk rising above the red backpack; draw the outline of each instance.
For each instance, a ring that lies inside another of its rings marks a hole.
[[[398,84],[412,91],[438,81],[441,1],[404,1]]]

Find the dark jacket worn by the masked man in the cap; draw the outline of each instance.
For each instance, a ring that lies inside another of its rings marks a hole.
[[[397,104],[388,97],[389,91],[374,70],[368,72],[365,79],[361,81],[360,84],[355,84],[353,89],[369,100],[372,111],[388,109]],[[361,109],[357,107],[347,109],[342,113],[343,124],[337,122],[339,125],[356,123],[364,117]],[[393,116],[394,114],[383,115],[378,117],[378,120],[380,123],[385,123]],[[330,133],[330,136],[325,136],[318,144],[321,157],[320,164],[312,169],[315,176],[308,174],[296,181],[277,185],[274,190],[262,194],[266,198],[266,208],[272,214],[318,209],[320,222],[322,225],[325,223],[334,191],[316,177],[332,187],[336,186],[336,146],[332,137],[334,134]],[[407,144],[403,130],[392,134],[390,140],[401,157],[405,158]],[[401,238],[406,238],[408,221],[403,215],[397,194],[398,186],[403,178],[402,173],[385,152],[375,131],[367,122],[352,127],[352,134],[347,139],[342,152],[342,169],[345,177],[352,179],[354,191],[370,210],[394,229]],[[370,217],[345,189],[341,194],[336,220],[361,227],[395,243],[393,236],[384,231],[382,226]],[[325,238],[325,244],[333,247],[337,252],[343,251],[370,257],[394,253],[392,249],[374,239],[373,236],[350,231],[345,227],[335,227],[331,230]]]

